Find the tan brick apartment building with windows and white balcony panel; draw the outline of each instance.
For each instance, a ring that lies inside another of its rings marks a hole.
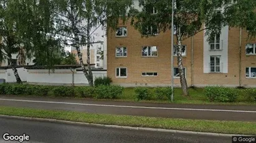
[[[150,32],[154,31],[151,28]],[[209,42],[204,33],[199,32],[182,42],[187,84],[256,87],[256,38],[247,40],[246,29],[240,33],[240,28],[228,26]],[[116,32],[108,34],[107,45],[107,75],[114,84],[166,86],[171,85],[173,76],[174,86],[180,86],[175,50],[174,72],[171,73],[170,30],[145,38],[130,21],[125,25],[120,21]]]

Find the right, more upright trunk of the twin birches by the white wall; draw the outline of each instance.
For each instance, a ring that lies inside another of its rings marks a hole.
[[[90,18],[87,18],[87,65],[88,65],[88,72],[89,72],[89,85],[93,86],[93,75],[92,75],[92,69],[90,66]]]

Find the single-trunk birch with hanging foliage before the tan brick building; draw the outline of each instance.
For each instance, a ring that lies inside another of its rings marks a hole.
[[[255,27],[255,1],[231,0],[176,0],[174,9],[174,30],[176,31],[177,59],[179,77],[183,95],[189,95],[186,77],[183,72],[182,43],[186,38],[192,37],[206,30],[207,40],[219,34],[221,28],[230,24],[232,27]],[[139,0],[140,7],[130,10],[131,25],[146,37],[155,33],[171,30],[172,1],[166,0]],[[248,8],[247,8],[248,7]],[[221,13],[218,9],[224,8]],[[241,12],[241,13],[240,13]],[[253,14],[254,13],[254,14]],[[254,20],[252,20],[254,19]],[[148,32],[151,27],[158,31]],[[172,53],[173,54],[173,53]]]

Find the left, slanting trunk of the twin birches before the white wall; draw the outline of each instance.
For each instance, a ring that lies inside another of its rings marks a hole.
[[[72,17],[75,17],[74,14],[73,14],[73,6],[71,6],[71,16]],[[83,74],[85,75],[85,77],[87,78],[88,80],[88,84],[90,86],[93,86],[93,82],[92,82],[92,75],[90,75],[90,72],[88,74],[87,72],[87,69],[85,69],[85,66],[83,64],[83,58],[82,58],[82,55],[81,55],[81,51],[80,51],[80,41],[79,41],[79,37],[78,37],[78,29],[77,27],[75,26],[76,20],[75,18],[72,19],[72,32],[73,32],[73,35],[75,37],[75,49],[77,50],[77,56],[79,58],[79,61],[80,61],[80,65],[82,67],[82,70],[83,70]],[[88,63],[88,62],[87,62]],[[90,62],[89,62],[90,63]],[[90,67],[90,64],[88,64],[88,67]],[[92,71],[91,71],[92,72]]]

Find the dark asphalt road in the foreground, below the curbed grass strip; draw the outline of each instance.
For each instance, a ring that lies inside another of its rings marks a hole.
[[[26,142],[231,142],[231,137],[198,136],[193,134],[173,134],[168,132],[136,131],[130,129],[78,126],[22,119],[0,118],[0,142],[2,135],[26,134]],[[11,142],[11,141],[9,141]]]

